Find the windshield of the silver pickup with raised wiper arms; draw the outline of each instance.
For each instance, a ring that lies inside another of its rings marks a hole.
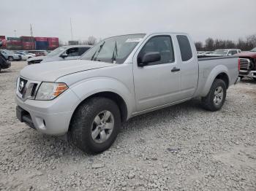
[[[108,63],[124,63],[128,55],[145,34],[113,36],[99,42],[88,50],[81,59]]]

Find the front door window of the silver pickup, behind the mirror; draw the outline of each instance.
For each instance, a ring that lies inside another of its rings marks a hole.
[[[173,43],[170,36],[154,36],[146,42],[140,50],[138,59],[148,52],[159,52],[161,60],[153,63],[148,63],[148,66],[162,63],[172,63],[174,61]]]

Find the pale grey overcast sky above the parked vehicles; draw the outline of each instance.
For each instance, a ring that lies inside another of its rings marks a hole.
[[[104,39],[184,32],[194,41],[256,34],[256,0],[0,0],[0,35]],[[72,21],[72,33],[70,30]],[[15,32],[16,31],[16,32]]]

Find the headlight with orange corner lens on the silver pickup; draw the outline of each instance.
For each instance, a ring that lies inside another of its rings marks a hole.
[[[65,83],[42,82],[37,90],[36,100],[52,100],[67,90]]]

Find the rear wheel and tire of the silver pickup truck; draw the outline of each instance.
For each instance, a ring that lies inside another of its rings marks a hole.
[[[203,107],[211,112],[222,108],[227,95],[227,87],[222,79],[214,79],[206,97],[202,98]]]

